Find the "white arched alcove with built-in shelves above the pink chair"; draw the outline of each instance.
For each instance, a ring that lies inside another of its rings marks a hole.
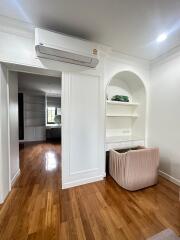
[[[113,101],[115,95],[128,96],[129,102]],[[117,73],[106,88],[106,150],[144,145],[146,90],[133,72]]]

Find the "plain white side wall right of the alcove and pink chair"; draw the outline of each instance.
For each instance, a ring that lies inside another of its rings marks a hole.
[[[180,56],[178,55],[152,65],[148,143],[150,146],[160,148],[161,173],[180,185]]]

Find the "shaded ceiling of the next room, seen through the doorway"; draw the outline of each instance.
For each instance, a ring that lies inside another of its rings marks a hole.
[[[19,91],[30,91],[49,96],[61,95],[61,79],[56,77],[19,73],[18,85]]]

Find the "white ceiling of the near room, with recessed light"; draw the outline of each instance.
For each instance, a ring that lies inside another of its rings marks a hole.
[[[1,0],[0,14],[149,60],[180,42],[180,0]]]

